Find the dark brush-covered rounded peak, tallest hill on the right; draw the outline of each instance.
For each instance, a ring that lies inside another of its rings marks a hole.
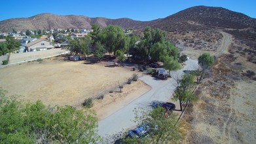
[[[198,6],[154,20],[151,26],[160,27],[166,31],[194,31],[212,27],[256,29],[256,19],[221,7]]]

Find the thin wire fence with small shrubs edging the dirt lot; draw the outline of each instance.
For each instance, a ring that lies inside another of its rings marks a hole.
[[[137,79],[140,77],[143,77],[144,73],[137,73]],[[120,88],[124,88],[126,84],[128,84],[128,79],[132,79],[132,75],[129,78],[126,78],[122,81],[115,82],[109,86],[104,86],[103,90],[98,92],[93,92],[90,94],[87,94],[85,98],[79,98],[77,102],[73,105],[73,107],[81,107],[82,103],[84,102],[84,99],[86,98],[93,98],[93,99],[103,99],[105,94],[109,94],[112,92],[120,92]]]

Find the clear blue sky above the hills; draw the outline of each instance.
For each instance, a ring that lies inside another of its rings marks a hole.
[[[223,7],[256,18],[256,0],[1,0],[0,21],[41,13],[148,21],[198,5]]]

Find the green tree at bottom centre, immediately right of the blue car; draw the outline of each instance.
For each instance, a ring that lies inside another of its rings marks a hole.
[[[166,117],[163,113],[166,111],[163,107],[153,109],[153,111],[137,111],[137,124],[146,124],[149,129],[147,137],[124,139],[124,143],[179,143],[181,135],[179,128],[175,125],[177,115],[174,113],[170,117]]]

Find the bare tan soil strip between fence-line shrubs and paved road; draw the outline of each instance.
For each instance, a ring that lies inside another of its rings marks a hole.
[[[99,120],[115,113],[128,103],[139,98],[145,92],[149,91],[151,86],[142,81],[132,82],[132,84],[124,85],[122,92],[113,92],[106,94],[103,99],[94,100],[92,109],[96,111]]]

